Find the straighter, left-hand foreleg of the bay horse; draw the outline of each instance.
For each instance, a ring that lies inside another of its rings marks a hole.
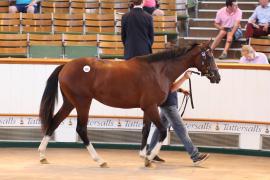
[[[141,144],[141,150],[140,150],[140,157],[145,158],[146,152],[147,152],[147,139],[149,136],[151,128],[151,121],[146,118],[146,115],[144,114],[143,117],[143,129],[142,129],[142,144]]]

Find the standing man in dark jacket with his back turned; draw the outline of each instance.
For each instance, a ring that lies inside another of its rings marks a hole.
[[[121,37],[126,60],[152,53],[153,18],[142,9],[143,0],[133,0],[134,8],[122,17]]]

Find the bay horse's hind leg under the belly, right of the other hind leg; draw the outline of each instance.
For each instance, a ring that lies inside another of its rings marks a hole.
[[[87,122],[88,122],[88,113],[90,108],[91,101],[80,101],[80,105],[76,107],[78,113],[77,128],[76,131],[82,139],[86,149],[92,156],[93,160],[98,162],[100,167],[107,167],[107,163],[99,157],[94,146],[88,139],[87,135]]]

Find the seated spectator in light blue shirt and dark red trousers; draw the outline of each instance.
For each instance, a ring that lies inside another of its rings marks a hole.
[[[270,3],[269,0],[259,0],[258,6],[246,26],[247,44],[249,38],[267,36],[270,34]]]

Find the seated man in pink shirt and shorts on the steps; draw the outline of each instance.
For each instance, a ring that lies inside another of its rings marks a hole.
[[[227,35],[226,44],[219,59],[226,59],[232,41],[242,37],[241,19],[242,11],[238,8],[236,0],[226,0],[226,7],[218,10],[214,25],[219,30],[219,33],[211,48],[214,50]]]

